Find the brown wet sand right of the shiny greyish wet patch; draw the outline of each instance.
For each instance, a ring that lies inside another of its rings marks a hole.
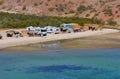
[[[63,41],[62,46],[70,49],[106,49],[120,48],[120,32],[99,36],[83,37]]]

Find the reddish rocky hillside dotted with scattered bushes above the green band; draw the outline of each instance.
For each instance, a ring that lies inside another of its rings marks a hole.
[[[78,16],[115,20],[120,24],[119,0],[0,0],[0,11],[47,16]]]

